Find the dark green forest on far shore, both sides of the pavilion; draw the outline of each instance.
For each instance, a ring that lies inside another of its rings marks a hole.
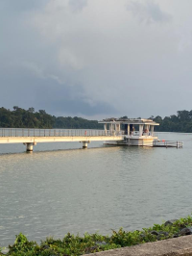
[[[178,111],[177,115],[157,115],[151,119],[158,122],[156,131],[192,133],[192,111]],[[0,108],[0,127],[7,128],[63,128],[63,129],[103,129],[97,120],[87,120],[82,117],[63,117],[49,115],[44,110],[35,112],[34,108],[24,110],[17,106],[13,110]]]

